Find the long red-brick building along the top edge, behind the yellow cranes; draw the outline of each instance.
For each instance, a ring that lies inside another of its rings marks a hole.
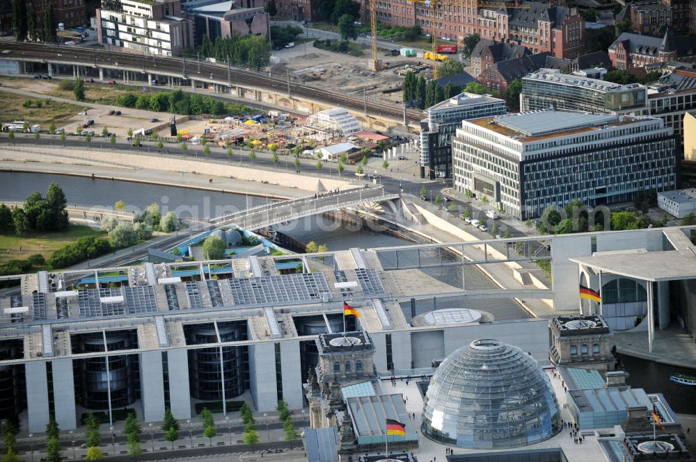
[[[360,0],[362,20],[369,21],[370,0]],[[466,35],[523,45],[532,53],[548,51],[557,58],[576,58],[585,52],[585,21],[577,8],[532,1],[505,1],[505,7],[480,7],[475,0],[439,5],[378,0],[377,19],[389,26],[418,25],[424,33],[461,44]]]

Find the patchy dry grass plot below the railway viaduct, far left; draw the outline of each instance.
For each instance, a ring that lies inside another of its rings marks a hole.
[[[36,101],[32,101],[31,107],[24,108],[22,104],[27,99],[21,94],[0,92],[0,119],[6,122],[26,120],[30,126],[40,124],[47,131],[51,122],[60,126],[84,109],[83,106],[62,101],[51,101],[47,105],[45,100],[41,101],[41,108],[36,107]]]

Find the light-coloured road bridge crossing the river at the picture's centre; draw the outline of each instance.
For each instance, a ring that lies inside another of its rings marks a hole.
[[[394,201],[399,199],[399,197],[398,194],[384,192],[382,188],[338,190],[288,201],[271,202],[237,213],[228,213],[214,217],[209,221],[217,225],[234,223],[242,226],[244,229],[254,231],[312,215],[338,211],[343,208],[357,208],[367,204]]]

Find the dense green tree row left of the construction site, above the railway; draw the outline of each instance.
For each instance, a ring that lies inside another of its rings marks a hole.
[[[203,43],[197,49],[203,58],[215,58],[223,63],[228,60],[231,65],[244,66],[260,70],[271,59],[271,49],[267,38],[257,35],[238,35],[235,37],[218,37],[211,42],[203,35]]]

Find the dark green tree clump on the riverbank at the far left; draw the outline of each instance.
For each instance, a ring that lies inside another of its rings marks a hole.
[[[68,200],[57,183],[51,183],[43,197],[32,192],[22,208],[12,211],[0,204],[0,234],[24,236],[29,231],[63,231],[68,228]]]

